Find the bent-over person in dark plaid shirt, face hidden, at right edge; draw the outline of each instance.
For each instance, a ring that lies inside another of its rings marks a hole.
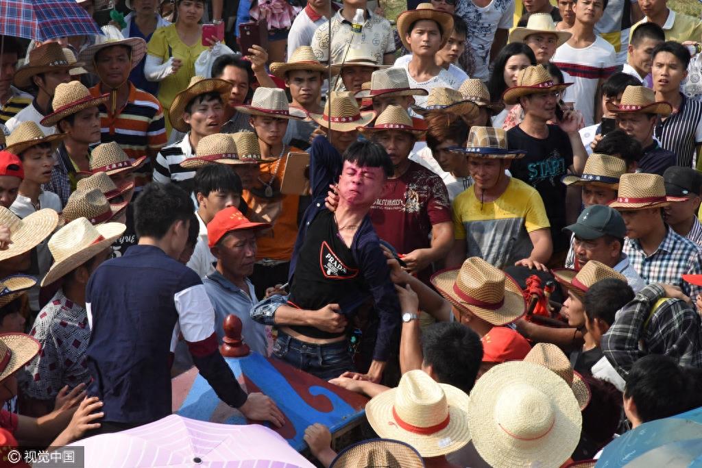
[[[647,354],[702,367],[701,319],[683,298],[689,300],[677,288],[649,284],[617,313],[602,336],[602,352],[619,375],[626,378],[633,363]]]

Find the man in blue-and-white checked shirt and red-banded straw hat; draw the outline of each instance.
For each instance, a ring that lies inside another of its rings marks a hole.
[[[702,273],[702,248],[665,225],[661,208],[681,199],[665,196],[663,178],[656,174],[623,174],[617,199],[609,204],[618,210],[628,239],[623,252],[646,283],[680,286],[689,297],[700,286],[682,280],[683,274]]]

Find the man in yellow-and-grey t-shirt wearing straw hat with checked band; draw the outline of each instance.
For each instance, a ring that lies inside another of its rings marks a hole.
[[[446,267],[480,257],[498,268],[534,268],[548,262],[553,246],[550,223],[541,196],[521,180],[505,175],[512,159],[524,157],[507,149],[501,128],[472,127],[468,145],[456,148],[468,155],[475,183],[453,200],[453,248]]]

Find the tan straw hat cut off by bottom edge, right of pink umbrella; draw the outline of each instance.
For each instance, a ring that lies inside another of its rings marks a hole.
[[[424,460],[412,446],[390,439],[370,439],[341,450],[329,468],[423,468]]]

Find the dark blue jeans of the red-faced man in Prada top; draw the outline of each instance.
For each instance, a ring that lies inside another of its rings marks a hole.
[[[333,379],[347,370],[354,370],[347,340],[329,345],[313,345],[278,332],[273,354],[322,380]]]

